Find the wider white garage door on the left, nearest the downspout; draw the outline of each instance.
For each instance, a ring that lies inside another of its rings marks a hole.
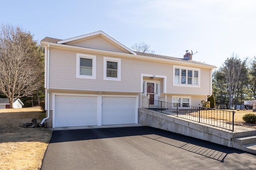
[[[97,125],[96,96],[55,96],[55,127]]]

